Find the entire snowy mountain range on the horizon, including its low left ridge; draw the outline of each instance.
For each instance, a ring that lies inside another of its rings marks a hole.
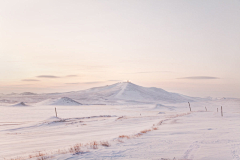
[[[61,98],[63,97],[63,98]],[[95,87],[87,90],[64,93],[6,95],[4,100],[39,103],[42,105],[83,104],[164,104],[209,100],[167,92],[161,88],[142,87],[131,82]],[[74,100],[72,100],[74,99]]]

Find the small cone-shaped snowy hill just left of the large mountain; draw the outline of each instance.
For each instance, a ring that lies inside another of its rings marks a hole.
[[[61,97],[57,99],[47,99],[37,103],[37,105],[79,106],[82,104],[72,100],[71,98]]]

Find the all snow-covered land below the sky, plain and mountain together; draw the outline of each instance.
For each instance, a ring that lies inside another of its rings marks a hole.
[[[239,99],[193,98],[131,83],[74,93],[1,97],[0,158],[240,159]],[[16,101],[26,105],[9,103]]]

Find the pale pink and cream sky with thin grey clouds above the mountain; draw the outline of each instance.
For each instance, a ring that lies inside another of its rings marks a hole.
[[[0,1],[0,93],[130,79],[240,98],[239,0]]]

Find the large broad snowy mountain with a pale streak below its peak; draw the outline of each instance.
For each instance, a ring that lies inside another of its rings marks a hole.
[[[75,99],[98,100],[105,103],[177,103],[196,101],[200,98],[188,97],[177,93],[167,92],[155,87],[142,87],[131,82],[116,83],[103,87],[91,88],[85,91],[71,92],[68,97]]]

